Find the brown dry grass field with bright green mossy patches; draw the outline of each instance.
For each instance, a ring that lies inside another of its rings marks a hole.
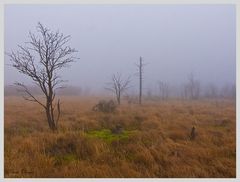
[[[52,132],[38,104],[5,97],[5,178],[236,177],[233,101],[123,103],[102,113],[92,111],[100,98],[61,99]],[[117,124],[121,134],[111,132]]]

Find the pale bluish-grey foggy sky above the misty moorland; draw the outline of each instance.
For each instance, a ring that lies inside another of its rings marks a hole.
[[[182,84],[190,73],[203,83],[235,83],[234,5],[6,5],[5,51],[17,50],[41,22],[71,35],[80,60],[61,75],[68,84],[103,90],[113,73],[132,76],[142,56],[144,87]],[[31,83],[8,66],[5,85]]]

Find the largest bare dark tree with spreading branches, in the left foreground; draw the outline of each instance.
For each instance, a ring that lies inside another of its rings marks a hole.
[[[56,130],[60,117],[60,100],[55,102],[56,89],[62,88],[64,80],[59,70],[72,63],[77,52],[66,44],[70,36],[52,32],[41,23],[37,25],[38,34],[29,33],[30,41],[25,46],[18,46],[19,51],[8,53],[12,66],[20,73],[30,77],[44,94],[44,102],[34,96],[23,83],[16,82],[25,95],[25,100],[38,103],[45,109],[48,125]]]

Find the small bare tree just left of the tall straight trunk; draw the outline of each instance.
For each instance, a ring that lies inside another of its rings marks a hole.
[[[119,73],[113,74],[112,81],[108,83],[108,87],[106,87],[106,89],[115,94],[118,105],[121,104],[122,93],[129,88],[129,83],[130,77],[128,77],[126,80],[123,80],[122,75]]]

